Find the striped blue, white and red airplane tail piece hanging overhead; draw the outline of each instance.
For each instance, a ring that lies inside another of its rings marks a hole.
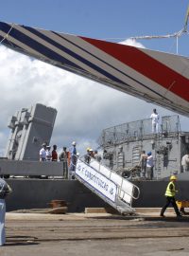
[[[0,43],[189,116],[189,59],[183,56],[5,22]]]

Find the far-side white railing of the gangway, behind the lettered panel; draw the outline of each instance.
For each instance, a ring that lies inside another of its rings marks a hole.
[[[90,155],[88,155],[88,156],[90,157],[90,158],[89,158],[89,159],[90,159],[90,160],[89,160],[89,163],[87,163],[85,160],[83,160],[83,157],[85,157],[85,155],[80,156],[80,157],[79,157],[79,160],[82,161],[82,162],[84,162],[86,165],[90,166],[91,168],[93,168],[96,172],[98,172],[98,173],[100,173],[100,174],[103,174],[104,176],[110,178],[111,180],[112,180],[112,174],[117,175],[119,178],[121,178],[121,186],[120,186],[120,184],[119,184],[118,182],[116,182],[115,180],[113,180],[113,182],[114,182],[114,183],[117,185],[117,187],[118,187],[118,194],[117,194],[117,196],[119,197],[119,199],[121,199],[122,201],[125,201],[125,200],[123,199],[123,198],[124,198],[124,195],[121,196],[121,192],[123,192],[123,194],[129,195],[131,199],[138,199],[138,198],[139,198],[139,196],[140,196],[140,190],[139,190],[139,188],[138,188],[135,184],[129,182],[129,180],[125,179],[125,178],[122,177],[121,175],[116,174],[114,171],[110,170],[107,166],[104,166],[103,164],[101,164],[100,162],[98,162],[97,160],[95,160],[94,157],[92,157],[92,156],[90,156]],[[90,163],[92,163],[92,162],[97,163],[99,168],[94,168],[93,165],[90,164]],[[110,175],[102,173],[102,172],[100,171],[100,169],[102,169],[102,168],[106,168],[106,169],[110,172]],[[123,189],[123,183],[124,183],[124,182],[128,182],[128,183],[130,183],[130,184],[132,185],[132,187],[134,188],[134,189],[132,188],[132,192],[133,192],[133,193],[129,193],[129,192],[125,192],[125,191],[124,191],[124,189]],[[135,189],[137,190],[137,195],[136,195],[136,196],[134,196],[134,190],[135,190]],[[126,203],[129,204],[129,205],[131,205],[131,201],[130,201],[130,203],[128,203],[128,202],[126,202]]]

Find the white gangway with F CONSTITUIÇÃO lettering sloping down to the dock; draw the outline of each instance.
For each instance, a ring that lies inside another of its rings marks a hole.
[[[94,158],[89,164],[82,157],[77,159],[76,178],[121,214],[135,213],[131,204],[139,198],[139,188]]]

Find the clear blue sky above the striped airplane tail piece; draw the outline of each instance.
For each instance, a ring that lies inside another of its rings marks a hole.
[[[188,0],[7,0],[1,4],[2,21],[42,27],[92,38],[126,39],[179,31]],[[117,40],[116,40],[117,39]],[[179,52],[188,55],[189,37],[179,40]],[[176,40],[143,40],[146,47],[176,51]]]

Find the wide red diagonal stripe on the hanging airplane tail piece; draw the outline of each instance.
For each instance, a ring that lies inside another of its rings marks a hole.
[[[148,79],[161,84],[185,101],[189,101],[189,80],[165,64],[153,59],[139,48],[86,37],[80,38],[108,53],[123,64],[129,65]]]

